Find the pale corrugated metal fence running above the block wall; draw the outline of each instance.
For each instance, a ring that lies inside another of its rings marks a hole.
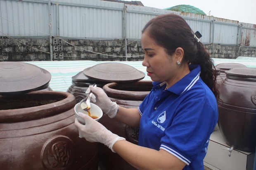
[[[256,24],[102,0],[0,0],[0,36],[140,39],[150,19],[168,13],[182,16],[203,43],[256,47]]]

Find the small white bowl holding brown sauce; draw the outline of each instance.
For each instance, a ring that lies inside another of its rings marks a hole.
[[[88,115],[88,112],[86,112],[85,110],[83,110],[81,108],[80,102],[75,105],[74,109],[75,109],[76,118],[78,119],[78,121],[85,124],[85,121],[78,115],[78,112],[82,112],[82,113],[87,114],[87,115]],[[91,114],[91,116],[97,116],[97,119],[94,119],[94,120],[99,121],[100,118],[103,115],[103,112],[102,112],[102,109],[100,109],[99,106],[91,103],[90,114]]]

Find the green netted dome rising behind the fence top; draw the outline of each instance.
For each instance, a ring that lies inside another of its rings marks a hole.
[[[206,15],[201,9],[191,5],[176,5],[174,7],[166,8],[166,10]]]

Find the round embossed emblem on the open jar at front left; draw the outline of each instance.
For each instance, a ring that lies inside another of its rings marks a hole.
[[[47,170],[69,170],[75,160],[75,146],[66,136],[48,140],[41,152],[41,160]]]

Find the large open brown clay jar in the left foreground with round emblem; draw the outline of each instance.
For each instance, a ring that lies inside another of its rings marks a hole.
[[[33,91],[0,103],[0,169],[97,170],[98,147],[78,137],[72,94]]]

